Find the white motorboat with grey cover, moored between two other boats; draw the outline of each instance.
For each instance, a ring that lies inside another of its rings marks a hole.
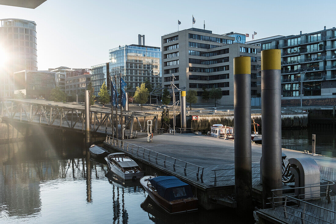
[[[143,177],[139,165],[124,153],[111,153],[105,157],[110,171],[123,180],[139,180]]]

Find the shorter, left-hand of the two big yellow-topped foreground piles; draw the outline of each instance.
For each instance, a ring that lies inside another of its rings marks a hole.
[[[252,210],[251,58],[234,58],[235,194],[238,210]]]

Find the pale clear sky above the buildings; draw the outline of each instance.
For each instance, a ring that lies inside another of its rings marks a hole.
[[[336,1],[114,1],[47,0],[36,9],[0,5],[0,18],[37,24],[38,70],[91,68],[109,61],[109,49],[138,43],[161,47],[161,36],[192,27],[215,34],[249,33],[247,41],[336,27]]]

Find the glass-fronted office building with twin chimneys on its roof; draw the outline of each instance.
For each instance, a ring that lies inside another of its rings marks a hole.
[[[138,44],[119,46],[109,53],[109,75],[119,76],[121,73],[128,87],[132,88],[146,80],[152,82],[154,88],[161,87],[161,49],[144,45],[144,35],[139,35]]]

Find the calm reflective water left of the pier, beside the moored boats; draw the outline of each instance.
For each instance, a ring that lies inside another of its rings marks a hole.
[[[88,157],[80,136],[0,145],[0,223],[254,223],[230,210],[170,216]]]

